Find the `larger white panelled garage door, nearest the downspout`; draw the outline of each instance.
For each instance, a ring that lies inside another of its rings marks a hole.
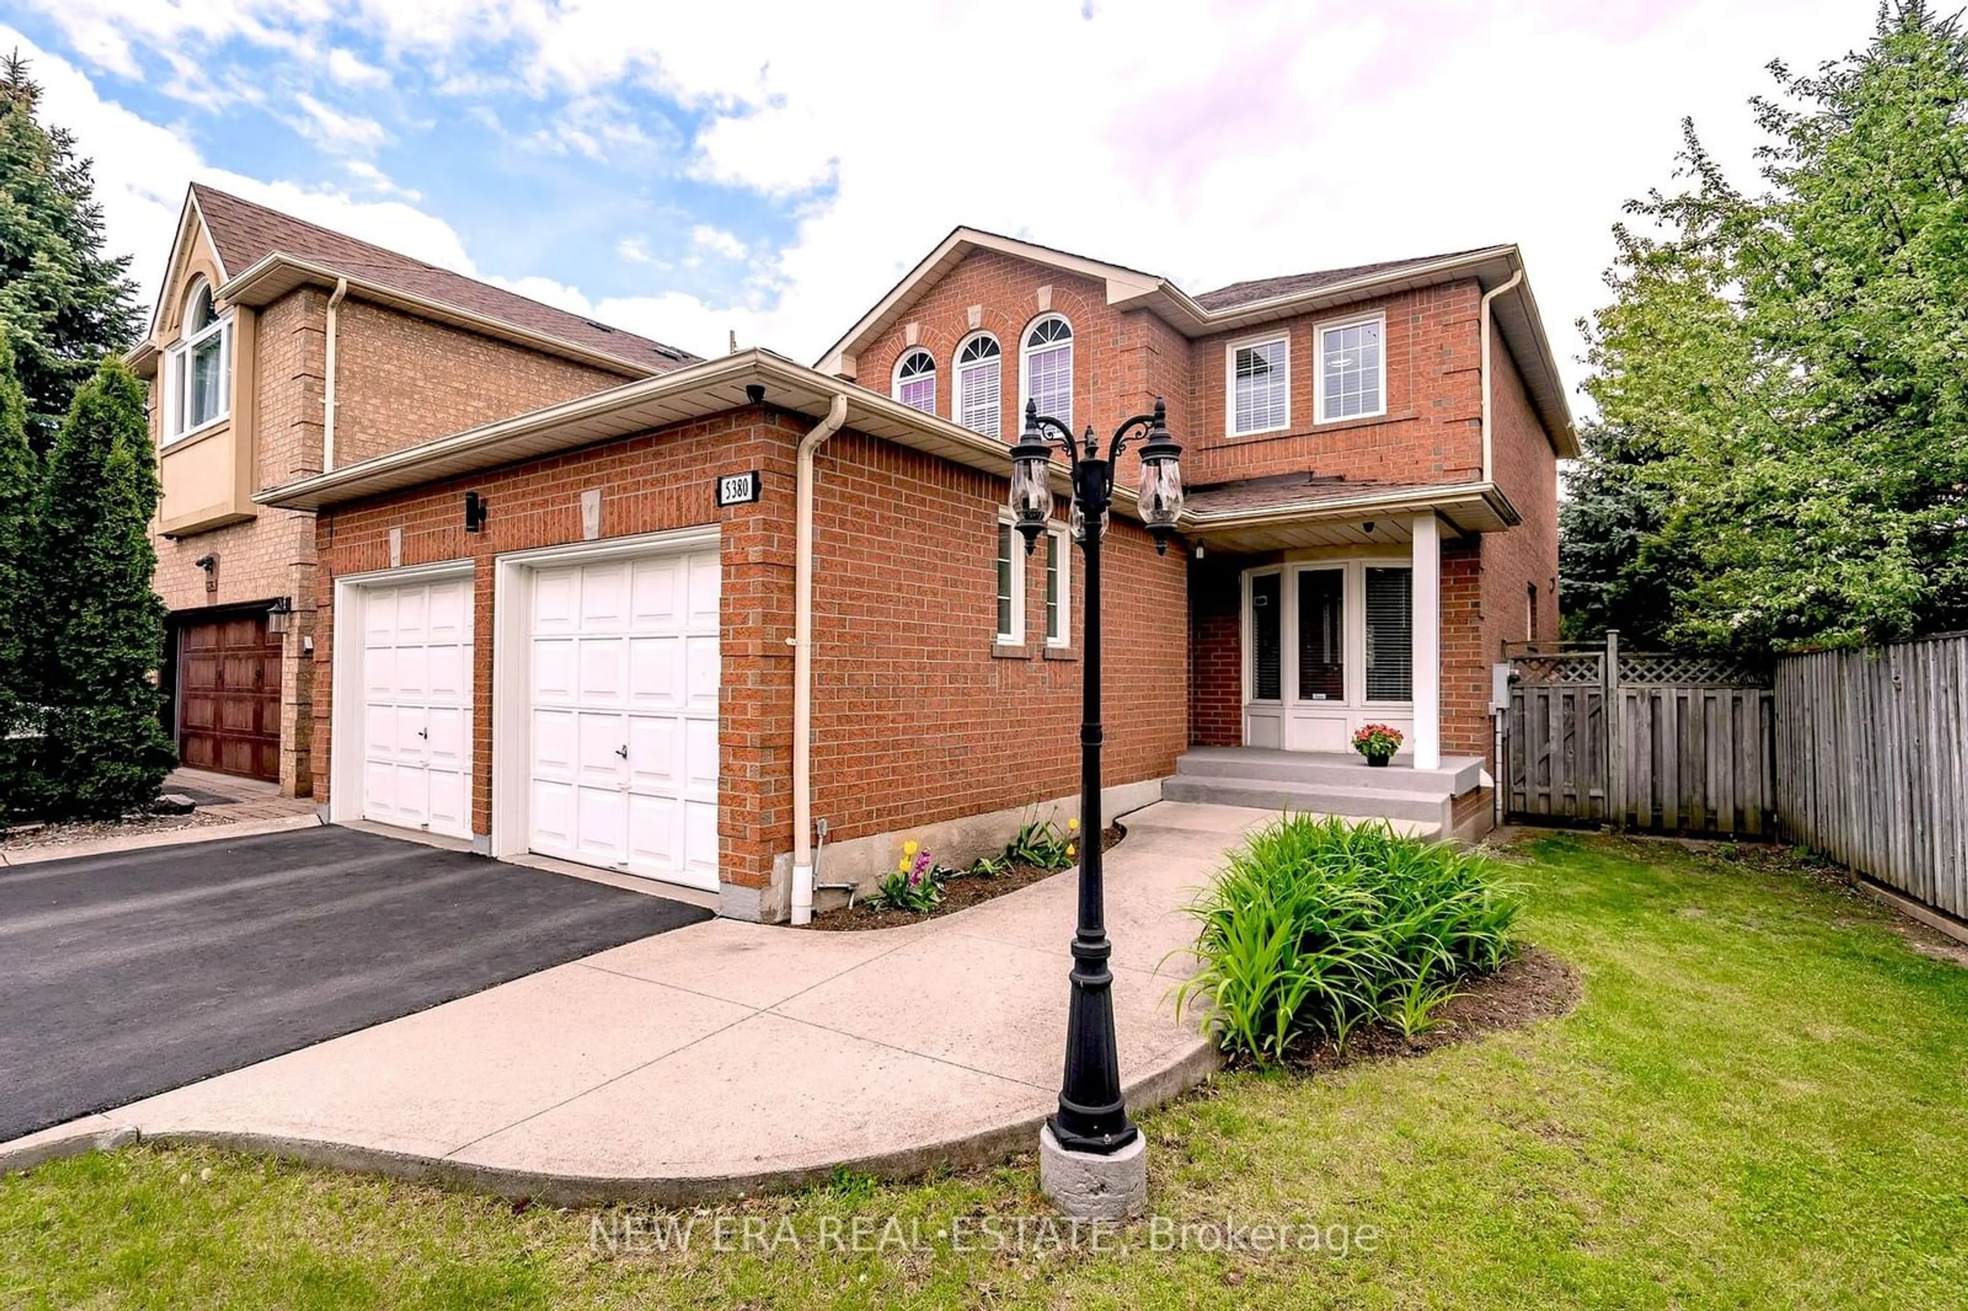
[[[533,573],[531,819],[549,856],[718,886],[718,553]]]

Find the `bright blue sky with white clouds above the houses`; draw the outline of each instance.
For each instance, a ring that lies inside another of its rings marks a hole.
[[[1240,278],[1519,242],[1576,384],[1679,120],[1872,0],[0,0],[155,289],[199,179],[701,354],[811,360],[951,226]]]

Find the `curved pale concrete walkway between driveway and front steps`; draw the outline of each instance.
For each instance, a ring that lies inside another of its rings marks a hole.
[[[1134,1106],[1216,1067],[1183,913],[1265,811],[1157,803],[1108,856]],[[1055,1106],[1075,876],[899,929],[716,919],[0,1146],[218,1142],[579,1203],[693,1203],[1027,1150]],[[1179,953],[1171,957],[1171,953]]]

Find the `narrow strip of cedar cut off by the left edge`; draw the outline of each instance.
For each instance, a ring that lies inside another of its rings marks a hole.
[[[0,823],[35,793],[30,776],[28,711],[39,705],[30,679],[35,600],[33,500],[39,461],[28,445],[28,398],[14,376],[14,348],[0,319]]]

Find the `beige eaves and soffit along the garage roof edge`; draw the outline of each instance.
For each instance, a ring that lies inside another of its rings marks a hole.
[[[754,384],[766,388],[766,404],[813,419],[823,419],[832,398],[844,392],[848,398],[846,423],[856,431],[988,474],[1008,476],[1012,470],[1012,447],[996,437],[972,433],[968,427],[923,413],[880,392],[829,378],[769,350],[752,348],[390,451],[333,472],[268,488],[254,500],[283,510],[327,510],[423,482],[457,478],[516,461],[541,459],[671,423],[742,409],[752,404],[744,390]],[[707,468],[705,476],[714,472],[718,470]],[[1055,468],[1053,480],[1065,494],[1067,468],[1063,463]],[[1132,488],[1118,490],[1116,508],[1138,518]]]

